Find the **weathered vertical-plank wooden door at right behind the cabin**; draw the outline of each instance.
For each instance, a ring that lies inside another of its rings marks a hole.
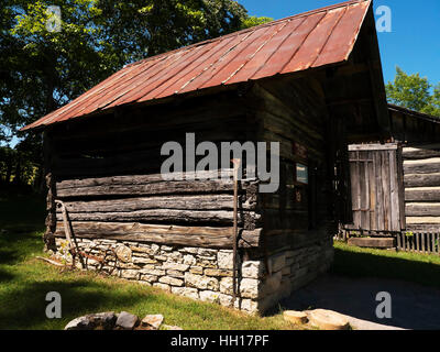
[[[349,146],[353,223],[345,229],[405,228],[402,148],[395,143]]]

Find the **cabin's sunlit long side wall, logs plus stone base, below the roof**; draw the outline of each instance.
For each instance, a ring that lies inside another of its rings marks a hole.
[[[161,147],[176,141],[185,148],[189,132],[196,145],[254,141],[249,105],[241,94],[229,91],[54,127],[46,134],[48,248],[72,260],[56,199],[67,210],[80,254],[76,265],[230,306],[233,183],[217,179],[217,173],[210,180],[191,179],[194,173],[164,180],[161,165],[168,156],[161,156]],[[261,246],[256,193],[255,179],[240,182],[239,257],[245,249]],[[258,310],[256,301],[275,289],[263,274],[262,261],[250,255],[241,261],[235,306]]]

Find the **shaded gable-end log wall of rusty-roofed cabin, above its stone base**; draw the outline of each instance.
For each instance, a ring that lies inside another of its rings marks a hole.
[[[278,190],[261,195],[266,251],[322,241],[331,233],[332,190],[327,174],[329,117],[320,85],[306,78],[274,80],[255,85],[252,94],[261,101],[258,140],[280,143]],[[297,180],[297,164],[308,166],[308,185]]]

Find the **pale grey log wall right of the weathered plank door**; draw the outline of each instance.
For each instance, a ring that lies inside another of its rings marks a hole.
[[[403,151],[408,231],[440,231],[440,144]]]

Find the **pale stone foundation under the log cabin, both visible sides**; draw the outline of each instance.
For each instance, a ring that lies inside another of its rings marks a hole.
[[[87,270],[160,287],[193,299],[232,306],[232,251],[169,246],[128,241],[77,239]],[[67,241],[56,239],[55,255],[72,262]],[[311,246],[282,250],[264,260],[239,265],[235,308],[264,312],[312,280],[332,262],[331,240]],[[77,260],[76,265],[81,267]]]

